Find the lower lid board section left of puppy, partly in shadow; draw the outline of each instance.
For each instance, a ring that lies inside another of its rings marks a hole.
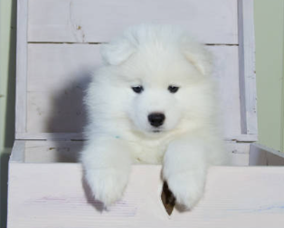
[[[29,44],[28,50],[27,131],[81,132],[86,120],[82,100],[101,62],[99,45]]]

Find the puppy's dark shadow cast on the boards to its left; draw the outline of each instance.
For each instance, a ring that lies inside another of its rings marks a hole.
[[[91,73],[87,68],[71,75],[71,81],[52,97],[52,113],[46,122],[46,132],[79,133],[82,134],[87,122],[84,97],[90,83]],[[64,141],[55,141],[53,153],[57,162],[78,162],[79,153],[83,147],[83,141],[68,144]],[[50,151],[51,152],[51,151]]]

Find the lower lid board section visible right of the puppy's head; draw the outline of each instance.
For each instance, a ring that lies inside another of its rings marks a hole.
[[[239,59],[236,46],[208,46],[213,53],[213,77],[217,81],[225,138],[241,135]]]

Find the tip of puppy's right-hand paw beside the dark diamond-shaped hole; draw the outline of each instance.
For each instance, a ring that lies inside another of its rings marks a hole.
[[[190,210],[204,194],[204,178],[191,173],[179,173],[167,178],[167,185],[175,195],[175,202],[182,210]]]

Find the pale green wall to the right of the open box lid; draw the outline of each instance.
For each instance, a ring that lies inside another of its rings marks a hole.
[[[283,148],[283,0],[255,0],[259,142]]]

